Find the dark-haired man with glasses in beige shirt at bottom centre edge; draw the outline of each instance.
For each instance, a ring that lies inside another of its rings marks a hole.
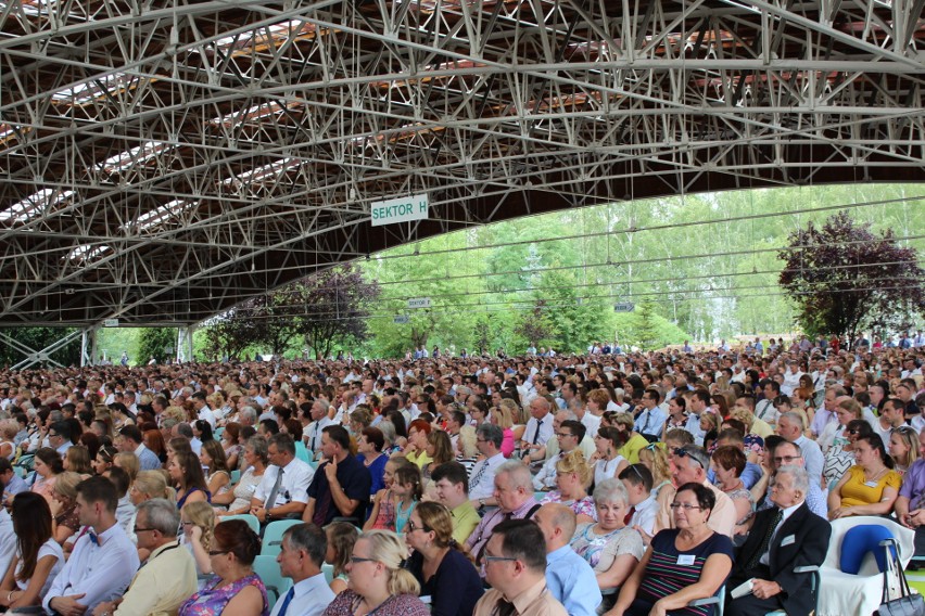
[[[485,548],[485,580],[492,589],[473,616],[566,616],[546,587],[546,542],[531,521],[498,524]]]

